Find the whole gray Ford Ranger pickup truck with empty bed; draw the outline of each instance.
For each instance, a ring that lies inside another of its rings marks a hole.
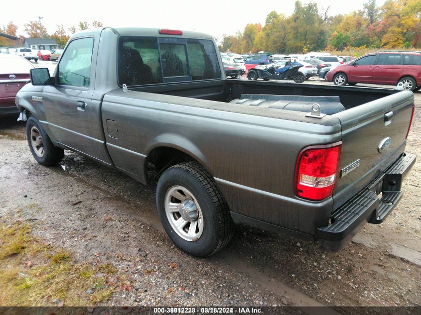
[[[174,243],[209,256],[234,223],[336,251],[402,198],[408,91],[227,80],[212,36],[146,28],[74,34],[53,77],[16,96],[41,165],[64,149],[156,183]],[[152,180],[154,179],[154,180]]]

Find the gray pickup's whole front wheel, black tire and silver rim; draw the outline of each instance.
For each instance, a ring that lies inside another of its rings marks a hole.
[[[26,121],[26,139],[34,159],[39,164],[54,166],[63,159],[64,150],[54,146],[38,119],[33,116]]]

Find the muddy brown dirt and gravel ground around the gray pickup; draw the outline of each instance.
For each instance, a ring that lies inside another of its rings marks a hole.
[[[415,99],[407,151],[421,157],[421,93]],[[24,123],[0,122],[0,220],[29,222],[32,233],[76,261],[114,265],[131,290],[116,290],[102,305],[420,305],[420,174],[419,159],[399,206],[338,253],[238,226],[225,249],[198,259],[163,232],[153,187],[69,151],[61,166],[40,166]]]

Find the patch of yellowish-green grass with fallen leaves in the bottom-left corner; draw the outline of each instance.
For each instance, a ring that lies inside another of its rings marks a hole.
[[[31,226],[0,224],[0,306],[96,305],[108,300],[117,284],[109,263],[75,263],[64,249],[55,249],[31,234]],[[92,294],[86,291],[91,289]]]

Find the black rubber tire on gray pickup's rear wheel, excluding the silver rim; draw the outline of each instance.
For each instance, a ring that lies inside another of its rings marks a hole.
[[[218,252],[219,250],[221,250],[222,248],[224,248],[228,244],[228,242],[231,240],[231,238],[234,235],[234,222],[231,218],[228,204],[225,201],[225,198],[222,196],[222,193],[220,192],[219,188],[217,187],[215,179],[209,174],[209,172],[202,165],[200,165],[197,162],[184,162],[184,163],[180,163],[168,168],[161,175],[158,181],[157,188],[156,188],[156,204],[158,207],[158,212],[160,212],[159,211],[160,199],[162,198],[163,200],[165,198],[165,192],[161,192],[161,188],[164,184],[163,181],[165,181],[166,175],[173,172],[180,172],[180,171],[184,175],[190,177],[194,182],[196,182],[199,185],[198,188],[202,189],[204,193],[212,201],[209,206],[210,206],[210,209],[212,209],[212,211],[214,212],[213,215],[216,217],[215,222],[217,223],[216,228],[217,228],[218,233],[216,235],[213,235],[214,237],[216,237],[216,240],[214,240],[213,242],[214,245],[210,248],[202,248],[201,251],[192,252],[186,248],[183,248],[182,246],[177,244],[175,241],[174,242],[183,251],[191,255],[199,256],[199,257],[211,256],[215,254],[216,252]],[[179,184],[180,186],[183,186],[183,183],[179,183]],[[163,194],[163,196],[161,196],[161,194]],[[203,204],[203,201],[199,201],[199,204],[203,213],[205,205]],[[161,213],[165,215],[164,208],[162,209]],[[205,216],[205,213],[203,213],[203,216]],[[165,220],[167,220],[166,216],[165,216]],[[161,221],[162,221],[162,217],[161,217]],[[204,228],[206,228],[206,221],[204,222],[204,224],[205,224]],[[174,234],[174,235],[180,238],[177,234]],[[203,234],[200,238],[202,237],[203,237]]]

